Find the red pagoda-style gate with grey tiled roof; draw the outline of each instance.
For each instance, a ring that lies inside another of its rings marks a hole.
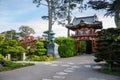
[[[66,25],[66,28],[74,31],[71,37],[76,40],[76,51],[79,53],[82,50],[82,43],[85,43],[85,52],[91,53],[95,51],[96,42],[95,37],[97,36],[97,30],[102,29],[102,22],[98,21],[98,17],[87,16],[87,17],[75,17],[73,22]]]

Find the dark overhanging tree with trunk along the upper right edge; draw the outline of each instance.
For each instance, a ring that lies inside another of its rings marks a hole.
[[[90,0],[89,7],[106,10],[105,16],[114,16],[117,28],[120,28],[120,0]]]

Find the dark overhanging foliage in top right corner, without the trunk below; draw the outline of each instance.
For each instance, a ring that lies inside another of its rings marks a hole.
[[[105,9],[108,15],[120,11],[120,0],[89,0],[88,5],[95,10]]]

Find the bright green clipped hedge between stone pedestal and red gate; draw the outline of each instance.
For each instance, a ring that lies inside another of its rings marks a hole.
[[[76,53],[75,40],[72,38],[56,38],[59,45],[58,51],[61,57],[72,57]]]

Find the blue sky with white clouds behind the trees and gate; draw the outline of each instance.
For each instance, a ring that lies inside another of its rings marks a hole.
[[[0,33],[14,29],[19,31],[19,27],[30,26],[35,30],[34,36],[42,36],[44,31],[48,30],[48,21],[41,17],[47,15],[47,7],[36,7],[33,0],[0,0]],[[97,15],[99,21],[102,21],[103,28],[116,27],[114,17],[104,17],[105,11],[95,11],[87,9],[82,12],[75,9],[72,11],[72,18]],[[57,22],[53,25],[55,37],[66,37],[67,29]],[[73,32],[71,32],[73,33]]]

